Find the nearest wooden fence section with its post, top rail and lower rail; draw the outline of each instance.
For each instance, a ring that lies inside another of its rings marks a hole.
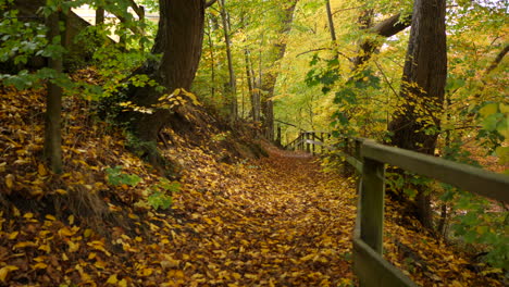
[[[382,255],[385,164],[398,166],[483,197],[509,202],[509,176],[507,175],[380,145],[370,139],[345,138],[339,154],[361,175],[353,232],[353,271],[361,286],[417,286]]]

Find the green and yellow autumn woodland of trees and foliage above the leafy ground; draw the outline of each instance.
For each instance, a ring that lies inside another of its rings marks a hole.
[[[152,185],[156,210],[171,205],[161,190],[178,189],[182,169],[161,148],[165,126],[216,125],[214,142],[249,130],[282,148],[306,130],[330,133],[337,148],[364,137],[509,174],[508,2],[438,2],[435,17],[420,9],[424,0],[1,0],[0,79],[4,90],[47,88],[39,155],[55,174],[70,164],[62,133],[74,133],[62,99],[79,98],[94,121],[121,128],[129,150],[163,175]],[[72,12],[84,7],[91,24]],[[425,74],[412,78],[417,52],[438,65],[421,64]],[[340,165],[334,151],[323,162]],[[9,172],[1,162],[0,172]],[[138,184],[119,166],[107,173],[119,186]],[[396,166],[387,173],[406,215],[507,278],[507,202]],[[3,179],[14,185],[11,173]]]

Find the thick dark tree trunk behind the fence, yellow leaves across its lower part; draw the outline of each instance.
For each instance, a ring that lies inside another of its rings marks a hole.
[[[447,76],[445,0],[415,0],[404,67],[402,103],[389,124],[393,145],[433,154]],[[418,189],[419,220],[433,226],[430,195]]]

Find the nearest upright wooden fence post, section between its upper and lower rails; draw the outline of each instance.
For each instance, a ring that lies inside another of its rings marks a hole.
[[[384,163],[363,158],[360,238],[382,254],[385,196]]]

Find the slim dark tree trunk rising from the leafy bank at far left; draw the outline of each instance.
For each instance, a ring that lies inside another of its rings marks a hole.
[[[61,12],[54,12],[47,18],[49,27],[48,38],[50,40],[61,37],[63,45],[64,35],[60,30]],[[49,58],[49,68],[57,73],[62,73],[62,55]],[[49,82],[48,96],[46,101],[46,122],[45,122],[45,149],[44,154],[53,173],[62,172],[62,88]]]

